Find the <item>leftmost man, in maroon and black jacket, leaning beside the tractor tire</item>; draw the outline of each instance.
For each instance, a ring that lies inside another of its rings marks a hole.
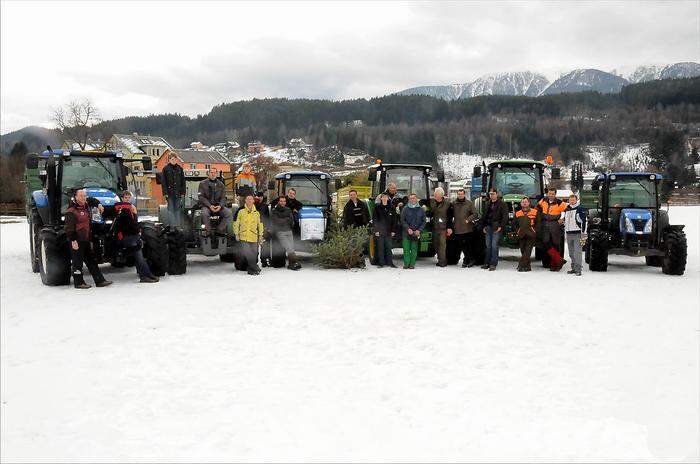
[[[105,279],[97,265],[95,253],[90,241],[90,210],[97,207],[104,211],[100,202],[94,198],[87,198],[85,190],[75,192],[65,216],[64,229],[70,241],[71,264],[73,269],[73,285],[75,288],[86,289],[91,286],[85,283],[83,278],[83,264],[85,264],[95,281],[96,287],[106,287],[112,282]]]

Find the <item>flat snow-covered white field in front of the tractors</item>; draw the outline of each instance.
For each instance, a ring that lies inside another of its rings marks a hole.
[[[0,221],[2,460],[695,462],[700,208],[670,215],[682,277],[192,258],[88,291]]]

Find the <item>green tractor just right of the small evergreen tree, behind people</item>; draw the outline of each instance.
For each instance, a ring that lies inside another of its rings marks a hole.
[[[368,170],[372,193],[370,198],[364,201],[367,203],[370,217],[374,211],[376,198],[380,193],[386,191],[387,186],[392,182],[396,184],[397,189],[392,205],[396,207],[399,214],[403,206],[408,203],[409,193],[415,193],[420,205],[429,211],[430,198],[433,196],[435,187],[439,183],[445,182],[444,173],[438,171],[433,176],[433,167],[429,164],[382,163],[381,160],[377,160],[377,163],[370,166]],[[394,248],[400,248],[400,234],[397,234],[392,242]],[[418,242],[418,256],[433,256],[434,254],[432,227],[428,222]],[[369,241],[369,258],[372,264],[376,263],[374,240]]]

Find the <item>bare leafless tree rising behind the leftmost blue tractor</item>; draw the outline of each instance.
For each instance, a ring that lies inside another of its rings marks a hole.
[[[95,126],[102,122],[102,119],[99,110],[89,98],[73,100],[56,108],[52,119],[66,139],[77,143],[81,150],[85,150],[88,144],[99,139]],[[100,141],[103,145],[106,142]]]

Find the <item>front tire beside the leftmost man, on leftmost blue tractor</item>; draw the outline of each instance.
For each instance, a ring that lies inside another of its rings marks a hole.
[[[70,244],[63,229],[44,227],[39,236],[39,274],[44,285],[70,283]]]

